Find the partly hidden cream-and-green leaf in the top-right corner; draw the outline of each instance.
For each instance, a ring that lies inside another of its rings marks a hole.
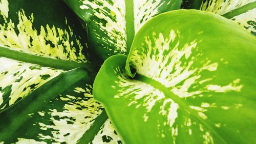
[[[184,1],[183,8],[199,9],[222,15],[244,27],[256,36],[255,0],[193,0]]]

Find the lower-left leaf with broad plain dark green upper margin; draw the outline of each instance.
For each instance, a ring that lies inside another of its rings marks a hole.
[[[103,143],[106,136],[120,141],[92,96],[93,80],[83,68],[62,73],[2,111],[0,142]]]

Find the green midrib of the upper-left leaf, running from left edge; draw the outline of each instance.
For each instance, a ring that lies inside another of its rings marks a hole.
[[[9,59],[22,61],[25,63],[37,64],[44,67],[50,67],[54,69],[62,69],[62,70],[72,70],[78,67],[85,67],[90,72],[96,72],[99,69],[99,66],[93,65],[91,63],[78,63],[74,61],[65,61],[60,59],[52,59],[50,57],[42,57],[37,55],[32,55],[28,53],[24,53],[17,50],[11,50],[9,48],[5,48],[0,46],[0,57],[7,57]]]

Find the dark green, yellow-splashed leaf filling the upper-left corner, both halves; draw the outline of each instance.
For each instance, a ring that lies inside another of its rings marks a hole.
[[[0,10],[0,109],[66,70],[97,71],[84,29],[62,1],[2,0]]]

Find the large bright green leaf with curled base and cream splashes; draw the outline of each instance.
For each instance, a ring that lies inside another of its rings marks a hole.
[[[128,56],[106,60],[93,95],[125,143],[253,143],[255,81],[253,35],[178,10],[148,21]]]

